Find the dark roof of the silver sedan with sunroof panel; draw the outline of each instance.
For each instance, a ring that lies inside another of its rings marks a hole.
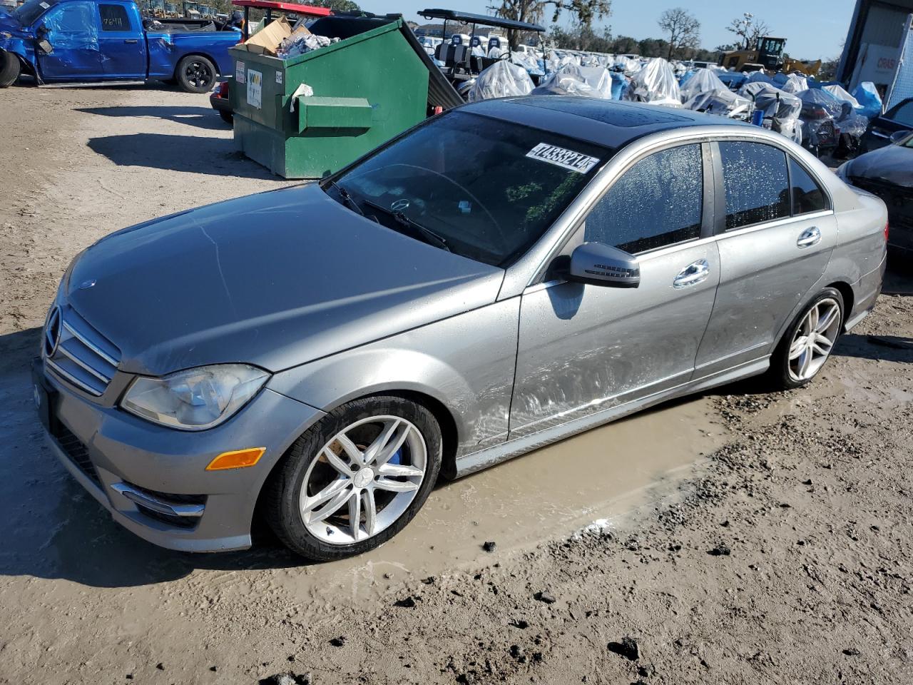
[[[671,129],[750,126],[743,121],[690,110],[562,95],[482,100],[465,105],[460,111],[513,121],[615,149],[645,135]]]

